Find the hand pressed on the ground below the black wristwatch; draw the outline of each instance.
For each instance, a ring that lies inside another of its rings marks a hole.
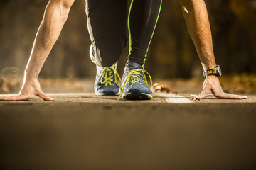
[[[217,98],[225,98],[225,99],[246,99],[247,96],[238,96],[235,94],[227,94],[223,91],[220,86],[220,81],[216,76],[207,76],[205,81],[203,82],[203,91],[198,96],[194,98],[197,100],[203,99],[206,96],[215,96]]]

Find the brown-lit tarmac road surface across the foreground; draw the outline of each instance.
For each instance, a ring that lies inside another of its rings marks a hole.
[[[256,96],[0,102],[0,169],[256,169]]]

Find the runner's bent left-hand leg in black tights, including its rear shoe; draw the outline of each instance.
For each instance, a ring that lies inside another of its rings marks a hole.
[[[97,65],[95,93],[118,94],[117,60],[127,43],[127,0],[87,0],[90,57]]]

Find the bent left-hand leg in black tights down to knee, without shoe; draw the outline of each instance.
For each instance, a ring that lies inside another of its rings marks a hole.
[[[127,0],[87,0],[86,13],[92,62],[110,67],[127,44]]]

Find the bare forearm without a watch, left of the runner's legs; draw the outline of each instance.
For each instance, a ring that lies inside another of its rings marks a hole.
[[[65,21],[68,18],[69,8],[55,1],[49,1],[43,16],[43,21],[36,34],[31,56],[25,70],[24,79],[37,79],[38,74],[53,48]]]

